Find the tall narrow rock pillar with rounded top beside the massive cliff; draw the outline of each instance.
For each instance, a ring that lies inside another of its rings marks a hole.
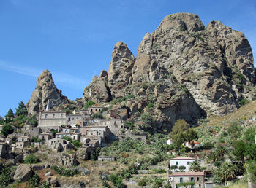
[[[117,42],[112,52],[112,59],[108,68],[108,85],[113,97],[124,95],[120,88],[127,87],[132,82],[132,68],[135,58],[124,42]]]

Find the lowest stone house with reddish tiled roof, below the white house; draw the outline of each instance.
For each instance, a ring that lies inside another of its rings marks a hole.
[[[169,176],[169,182],[172,187],[178,187],[181,182],[195,182],[193,188],[204,188],[204,172],[173,172]]]

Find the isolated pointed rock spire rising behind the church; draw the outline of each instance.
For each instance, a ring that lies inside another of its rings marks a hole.
[[[26,104],[29,115],[38,114],[46,108],[48,100],[50,107],[58,106],[61,103],[67,103],[66,97],[61,94],[53,82],[50,71],[45,70],[37,77],[37,87]]]

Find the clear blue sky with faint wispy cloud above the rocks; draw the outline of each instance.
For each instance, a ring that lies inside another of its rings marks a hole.
[[[244,32],[256,50],[256,1],[0,0],[0,115],[27,103],[45,69],[71,99],[105,69],[118,41],[133,54],[146,32],[176,12],[220,20]]]

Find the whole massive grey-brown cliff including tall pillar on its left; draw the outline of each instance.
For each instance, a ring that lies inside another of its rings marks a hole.
[[[254,85],[252,49],[244,34],[219,21],[205,27],[189,13],[165,17],[143,37],[137,58],[124,42],[116,43],[108,71],[112,99],[134,95],[122,103],[131,116],[154,103],[150,113],[158,125],[227,114]]]

